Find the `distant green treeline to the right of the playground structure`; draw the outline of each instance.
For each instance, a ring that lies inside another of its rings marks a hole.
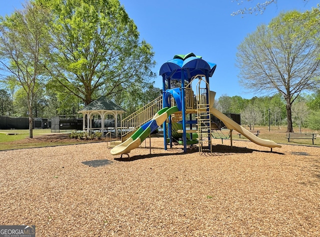
[[[224,113],[240,113],[241,123],[254,129],[255,125],[287,125],[286,104],[281,94],[252,97],[220,96],[214,106]],[[292,120],[299,131],[303,127],[320,130],[320,90],[300,95],[292,104]],[[295,131],[295,132],[299,132]]]

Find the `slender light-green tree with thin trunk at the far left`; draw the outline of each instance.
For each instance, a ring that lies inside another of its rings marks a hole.
[[[46,27],[48,15],[39,5],[27,2],[22,10],[0,17],[0,69],[6,73],[3,79],[13,80],[26,93],[30,138],[33,100],[36,89],[45,83],[44,55],[51,41]]]

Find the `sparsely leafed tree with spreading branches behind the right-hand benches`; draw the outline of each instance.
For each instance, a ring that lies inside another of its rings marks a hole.
[[[279,92],[286,103],[287,132],[293,132],[291,105],[304,90],[320,85],[319,9],[281,13],[260,25],[238,46],[239,82],[255,92]]]

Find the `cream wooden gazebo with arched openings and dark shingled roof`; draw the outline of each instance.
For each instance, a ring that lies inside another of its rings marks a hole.
[[[121,127],[121,125],[118,126],[118,121],[121,123],[124,112],[124,109],[104,96],[78,111],[83,114],[83,131],[90,134],[95,130],[101,130],[103,131],[102,136],[104,136],[104,131],[110,130],[114,131],[116,137],[118,136],[118,127]],[[113,119],[109,118],[111,116]]]

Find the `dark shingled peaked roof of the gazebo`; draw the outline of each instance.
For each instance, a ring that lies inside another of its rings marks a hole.
[[[124,112],[124,109],[121,108],[119,105],[116,105],[111,100],[105,98],[104,96],[101,96],[98,99],[86,105],[84,108],[78,111],[78,113],[83,113],[87,111],[101,111],[101,110],[104,110],[104,111],[112,110],[112,111]]]

